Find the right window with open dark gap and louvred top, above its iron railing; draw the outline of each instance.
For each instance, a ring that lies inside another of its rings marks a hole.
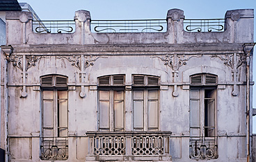
[[[215,75],[191,76],[189,93],[191,136],[216,136],[216,83]]]

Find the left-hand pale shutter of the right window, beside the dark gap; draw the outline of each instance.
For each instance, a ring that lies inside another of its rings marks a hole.
[[[200,136],[200,89],[191,89],[189,98],[190,134]]]

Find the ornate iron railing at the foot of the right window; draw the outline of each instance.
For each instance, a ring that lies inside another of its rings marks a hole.
[[[191,137],[189,141],[189,158],[218,159],[216,137]]]

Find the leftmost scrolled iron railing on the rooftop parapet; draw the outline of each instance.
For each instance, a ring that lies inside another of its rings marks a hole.
[[[35,33],[74,33],[74,20],[33,21]]]

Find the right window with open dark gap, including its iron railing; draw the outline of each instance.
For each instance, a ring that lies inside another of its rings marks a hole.
[[[217,159],[216,137],[216,84],[215,75],[191,76],[189,91],[191,159]]]

